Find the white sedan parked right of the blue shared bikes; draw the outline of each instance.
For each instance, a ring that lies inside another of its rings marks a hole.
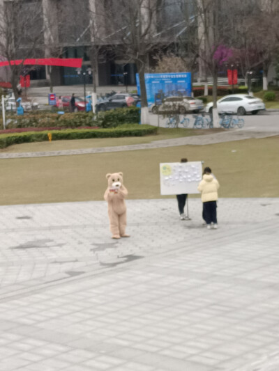
[[[211,113],[213,109],[213,102],[206,104],[205,111]],[[217,101],[218,113],[234,112],[238,115],[245,115],[247,112],[252,115],[257,115],[259,111],[266,109],[262,100],[251,95],[246,94],[232,94],[226,95]]]

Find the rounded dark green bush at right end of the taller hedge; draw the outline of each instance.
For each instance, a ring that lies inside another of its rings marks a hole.
[[[100,112],[98,116],[98,126],[104,128],[130,123],[140,123],[140,109],[135,106]]]

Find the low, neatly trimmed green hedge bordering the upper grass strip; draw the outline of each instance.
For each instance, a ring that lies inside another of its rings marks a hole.
[[[70,139],[90,139],[90,138],[119,138],[121,136],[144,136],[156,134],[157,127],[149,125],[123,125],[113,129],[66,129],[53,131],[52,141]],[[49,132],[24,132],[16,134],[1,134],[0,148],[19,143],[32,143],[48,141]]]

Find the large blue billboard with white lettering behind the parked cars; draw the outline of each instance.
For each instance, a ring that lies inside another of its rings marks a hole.
[[[161,104],[166,97],[187,96],[192,93],[191,73],[146,73],[144,74],[147,103]],[[140,95],[140,79],[136,74],[137,93]]]

